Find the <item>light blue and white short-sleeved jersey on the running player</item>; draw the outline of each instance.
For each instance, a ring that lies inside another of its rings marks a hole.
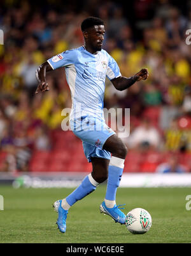
[[[52,69],[64,67],[71,90],[70,120],[90,116],[103,119],[106,76],[121,76],[117,62],[105,50],[92,54],[84,46],[66,50],[47,60]]]

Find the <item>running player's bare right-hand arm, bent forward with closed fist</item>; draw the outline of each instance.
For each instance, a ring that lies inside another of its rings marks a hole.
[[[112,79],[111,82],[117,90],[125,90],[131,87],[131,85],[133,85],[135,82],[138,82],[140,80],[146,80],[147,78],[148,69],[143,68],[134,76],[131,76],[129,78],[125,76],[119,76],[118,78]]]

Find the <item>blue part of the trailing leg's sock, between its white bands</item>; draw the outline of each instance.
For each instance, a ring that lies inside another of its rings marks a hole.
[[[80,186],[77,187],[69,196],[66,197],[67,203],[72,206],[76,201],[87,196],[95,190],[95,186],[90,182],[88,175],[83,179]]]

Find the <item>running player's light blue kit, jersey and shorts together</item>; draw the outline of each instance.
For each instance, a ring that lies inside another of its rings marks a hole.
[[[106,140],[115,132],[104,121],[104,90],[106,76],[121,76],[117,62],[105,50],[92,54],[84,46],[67,50],[47,60],[52,69],[64,67],[71,90],[72,110],[69,124],[83,141],[88,161],[91,157],[111,159],[103,150]]]

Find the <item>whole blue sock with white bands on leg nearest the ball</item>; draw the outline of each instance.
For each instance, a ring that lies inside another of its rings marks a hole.
[[[125,159],[120,159],[118,157],[111,157],[110,166],[108,169],[108,185],[106,190],[106,197],[104,202],[106,207],[113,208],[115,205],[115,198],[117,193],[117,188],[120,184],[122,178],[122,173],[124,171]]]

